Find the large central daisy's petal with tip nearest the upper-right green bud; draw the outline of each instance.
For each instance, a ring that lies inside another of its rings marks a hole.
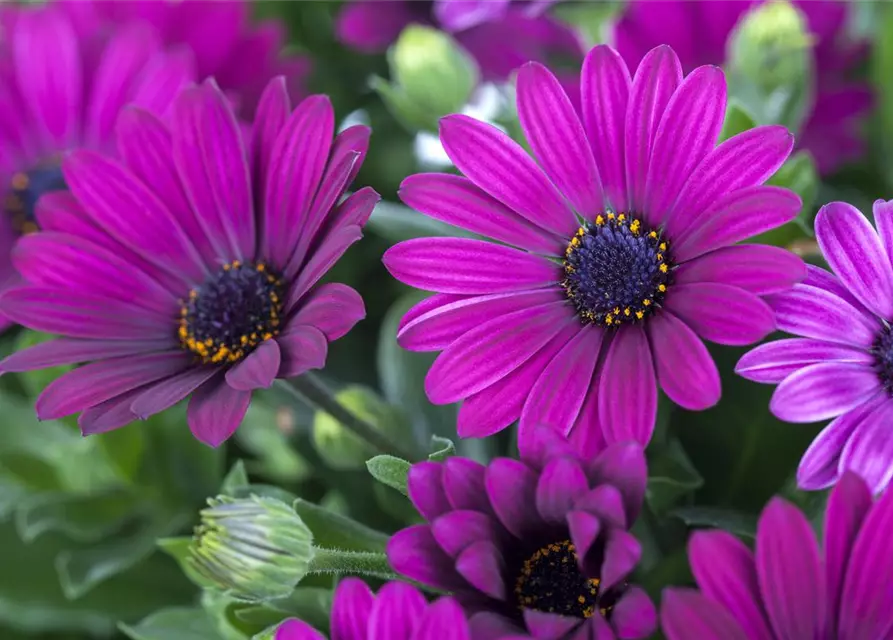
[[[692,71],[673,93],[654,135],[644,210],[663,223],[682,186],[713,149],[726,112],[726,79],[719,67]]]

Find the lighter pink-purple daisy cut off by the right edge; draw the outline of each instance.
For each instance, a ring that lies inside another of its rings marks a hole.
[[[844,202],[819,210],[816,239],[833,275],[810,265],[801,284],[771,296],[778,328],[800,337],[760,345],[735,369],[778,384],[769,408],[782,420],[834,418],[800,462],[803,489],[847,469],[874,492],[893,478],[893,201],[875,202],[874,219],[877,233]]]

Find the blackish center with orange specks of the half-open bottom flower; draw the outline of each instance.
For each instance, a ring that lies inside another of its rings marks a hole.
[[[570,540],[537,549],[521,565],[515,581],[518,607],[576,618],[591,618],[611,609],[599,601],[599,579],[580,572],[577,552]]]

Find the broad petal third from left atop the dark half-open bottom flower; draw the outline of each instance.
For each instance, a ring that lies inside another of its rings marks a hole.
[[[536,511],[537,477],[524,463],[497,458],[484,478],[487,497],[502,525],[516,538],[536,529],[541,520]]]

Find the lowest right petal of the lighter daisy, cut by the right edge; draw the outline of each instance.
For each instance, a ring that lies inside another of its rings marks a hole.
[[[838,471],[856,472],[873,494],[884,491],[893,480],[891,419],[893,401],[888,399],[862,419],[840,454]]]

